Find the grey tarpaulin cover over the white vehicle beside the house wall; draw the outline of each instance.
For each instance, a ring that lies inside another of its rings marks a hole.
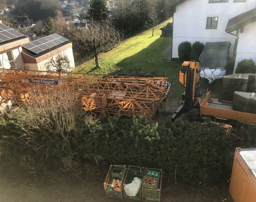
[[[207,42],[199,57],[202,67],[224,67],[228,62],[230,42]]]

